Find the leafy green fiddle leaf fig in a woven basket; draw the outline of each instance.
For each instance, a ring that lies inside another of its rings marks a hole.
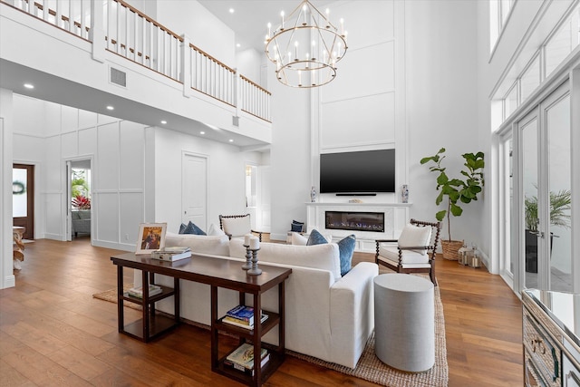
[[[420,160],[421,165],[430,163],[429,170],[437,174],[438,195],[435,198],[435,204],[443,203],[446,208],[441,209],[435,214],[439,221],[447,218],[448,239],[441,239],[443,257],[446,259],[457,260],[459,248],[463,246],[462,240],[453,240],[451,238],[451,215],[460,217],[463,213],[464,204],[469,204],[472,200],[477,200],[478,195],[483,191],[484,179],[483,169],[485,167],[483,152],[464,153],[461,157],[465,160],[460,177],[449,178],[446,168],[441,165],[445,159],[445,148],[441,148],[434,156],[425,157]]]

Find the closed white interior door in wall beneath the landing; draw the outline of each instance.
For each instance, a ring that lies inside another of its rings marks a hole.
[[[205,157],[183,154],[181,222],[195,223],[208,231],[208,160]]]

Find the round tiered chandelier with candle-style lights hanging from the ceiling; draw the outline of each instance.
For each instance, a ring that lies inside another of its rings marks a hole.
[[[281,24],[272,31],[268,23],[266,56],[275,64],[278,81],[287,86],[322,86],[336,77],[336,63],[346,53],[343,19],[340,30],[310,1],[303,0],[290,15],[280,14]]]

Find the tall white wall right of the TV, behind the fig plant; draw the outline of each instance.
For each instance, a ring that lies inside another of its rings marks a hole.
[[[478,141],[477,2],[412,1],[405,3],[407,123],[411,218],[433,219],[435,174],[420,159],[445,148],[449,176],[458,176],[461,154],[482,150]],[[484,252],[480,227],[485,198],[463,207],[451,217],[451,237],[474,242]],[[447,225],[442,237],[449,237]]]

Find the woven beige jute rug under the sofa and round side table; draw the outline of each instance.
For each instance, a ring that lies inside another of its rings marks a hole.
[[[125,285],[125,290],[132,287],[132,284]],[[111,303],[117,303],[117,289],[111,289],[106,292],[92,295]],[[128,307],[140,309],[140,305],[133,303],[124,303]],[[199,326],[200,324],[195,324]],[[201,326],[208,329],[206,325]],[[382,363],[374,354],[374,334],[371,335],[366,343],[361,359],[356,368],[351,369],[343,365],[324,362],[312,356],[302,353],[295,353],[286,350],[286,353],[302,359],[309,363],[321,365],[331,370],[342,372],[347,375],[364,379],[369,382],[391,387],[438,387],[447,386],[449,382],[449,366],[447,363],[447,346],[445,341],[445,319],[443,316],[443,304],[439,287],[435,287],[435,365],[428,372],[411,373],[395,370],[385,363]]]

